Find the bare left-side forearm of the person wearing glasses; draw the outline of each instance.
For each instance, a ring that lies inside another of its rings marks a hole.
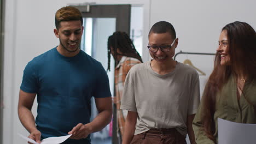
[[[123,136],[123,144],[129,144],[132,141],[135,125],[137,121],[138,113],[133,111],[128,111],[126,122],[125,122],[125,132]]]

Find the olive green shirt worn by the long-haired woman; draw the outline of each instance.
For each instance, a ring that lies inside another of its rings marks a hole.
[[[206,95],[203,94],[203,97]],[[207,144],[214,143],[208,139],[203,131],[201,112],[202,104],[199,106],[199,110],[193,121],[193,129],[195,133],[196,143]],[[230,77],[229,81],[223,86],[222,90],[217,93],[216,97],[216,111],[214,113],[215,131],[214,137],[218,143],[218,118],[226,119],[231,122],[237,123],[256,123],[255,116],[256,107],[256,81],[246,82],[243,87],[243,92],[240,99],[237,100],[237,87],[236,80],[233,76]]]

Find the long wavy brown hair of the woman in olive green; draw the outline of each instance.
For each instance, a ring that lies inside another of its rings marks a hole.
[[[214,113],[216,95],[228,82],[231,75],[247,77],[247,81],[256,80],[256,33],[246,22],[235,21],[222,28],[228,34],[230,65],[220,65],[220,54],[217,52],[214,69],[203,92],[202,119],[203,130],[209,139],[216,141]]]

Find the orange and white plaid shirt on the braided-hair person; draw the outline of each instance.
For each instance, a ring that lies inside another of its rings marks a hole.
[[[138,63],[141,63],[141,61],[136,58],[123,56],[117,67],[115,67],[115,97],[113,98],[113,103],[117,105],[117,131],[120,130],[121,135],[124,134],[125,118],[127,116],[127,111],[120,110],[125,77],[131,67]]]

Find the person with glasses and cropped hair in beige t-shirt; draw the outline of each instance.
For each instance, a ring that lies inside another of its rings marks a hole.
[[[121,109],[127,110],[123,143],[195,143],[192,122],[200,101],[199,76],[173,60],[178,38],[171,23],[149,31],[152,60],[127,74]]]

